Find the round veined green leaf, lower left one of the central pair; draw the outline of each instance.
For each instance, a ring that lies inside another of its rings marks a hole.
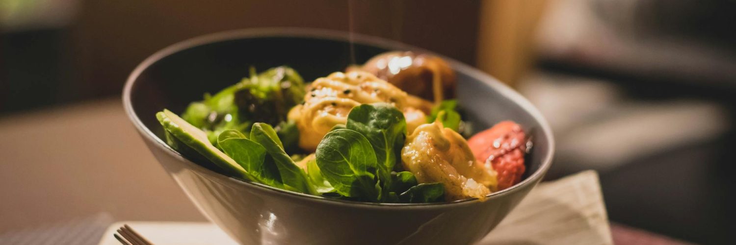
[[[316,163],[337,193],[378,201],[378,162],[373,147],[361,133],[350,129],[328,132],[317,146]]]

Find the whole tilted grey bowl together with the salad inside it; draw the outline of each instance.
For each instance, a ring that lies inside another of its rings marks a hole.
[[[123,104],[166,173],[241,244],[472,244],[554,149],[539,111],[483,72],[318,29],[176,43],[135,68]]]

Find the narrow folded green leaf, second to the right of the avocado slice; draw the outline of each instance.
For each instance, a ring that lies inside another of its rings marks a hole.
[[[266,149],[266,153],[273,159],[285,190],[315,193],[314,187],[308,181],[307,174],[283,151],[283,145],[276,135],[276,131],[269,124],[253,124],[250,130],[250,140],[260,143]]]

